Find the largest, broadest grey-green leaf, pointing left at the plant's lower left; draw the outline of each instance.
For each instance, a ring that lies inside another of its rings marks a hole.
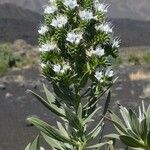
[[[33,125],[35,125],[41,132],[45,133],[46,135],[60,141],[60,142],[65,142],[65,143],[69,143],[72,144],[74,146],[76,146],[76,142],[71,140],[70,138],[65,137],[64,135],[62,135],[60,133],[60,131],[58,129],[56,129],[55,127],[50,126],[49,124],[47,124],[46,122],[35,118],[35,117],[30,117],[27,119],[30,123],[32,123]]]

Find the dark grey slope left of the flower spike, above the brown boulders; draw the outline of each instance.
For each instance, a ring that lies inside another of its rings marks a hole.
[[[41,20],[39,14],[15,5],[0,5],[0,42],[24,39],[31,44],[36,44],[37,27]]]

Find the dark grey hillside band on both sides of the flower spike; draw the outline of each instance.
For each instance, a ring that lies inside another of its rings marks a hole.
[[[37,44],[38,26],[43,17],[12,4],[0,5],[0,42],[24,39]],[[150,45],[150,22],[131,19],[111,19],[115,35],[121,37],[123,46]]]

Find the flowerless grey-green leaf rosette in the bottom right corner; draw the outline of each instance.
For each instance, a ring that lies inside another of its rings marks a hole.
[[[119,133],[119,139],[128,147],[141,150],[150,149],[150,105],[146,109],[144,102],[139,107],[139,116],[136,113],[120,105],[120,113],[123,119],[110,113],[111,121]]]

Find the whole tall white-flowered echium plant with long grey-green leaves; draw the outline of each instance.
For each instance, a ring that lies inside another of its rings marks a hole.
[[[32,94],[62,122],[54,127],[35,117],[28,121],[55,150],[95,149],[109,144],[89,146],[101,132],[103,117],[88,130],[101,108],[98,100],[114,81],[112,60],[118,55],[119,41],[112,37],[107,7],[98,0],[49,0],[45,7],[45,23],[39,29],[41,66],[55,95],[45,86],[46,100]],[[38,142],[37,137],[27,149],[39,149]]]

